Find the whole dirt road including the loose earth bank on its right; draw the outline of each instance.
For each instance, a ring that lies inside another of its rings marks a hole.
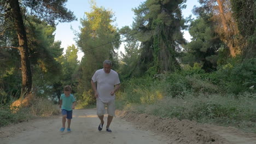
[[[256,134],[218,127],[209,124],[197,124],[188,120],[162,119],[146,114],[119,112],[122,118],[114,118],[112,133],[105,129],[98,131],[99,120],[95,109],[74,110],[71,133],[61,133],[61,116],[34,119],[0,128],[1,144],[27,143],[172,143],[172,144],[256,144]],[[107,117],[104,117],[106,122]],[[126,119],[126,120],[125,120]],[[132,123],[131,123],[132,122]],[[152,132],[154,131],[154,132]]]

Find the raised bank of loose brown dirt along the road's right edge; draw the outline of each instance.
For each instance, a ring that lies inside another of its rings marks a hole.
[[[170,139],[170,143],[229,143],[203,125],[177,118],[160,118],[147,114],[118,112],[118,116],[138,124],[138,128],[152,130]]]

